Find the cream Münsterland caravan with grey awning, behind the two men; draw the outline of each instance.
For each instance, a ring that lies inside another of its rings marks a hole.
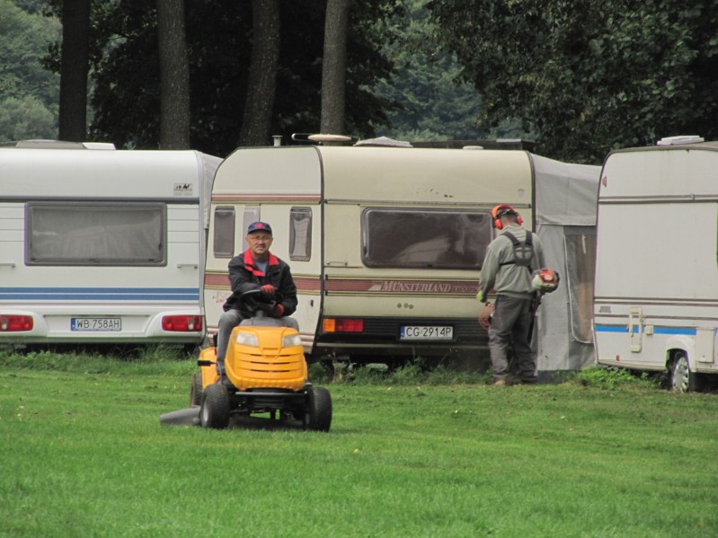
[[[538,226],[540,233],[543,225],[546,234],[557,234],[546,243],[556,249],[549,260],[565,287],[546,298],[544,309],[562,312],[553,317],[558,336],[543,340],[554,349],[542,354],[539,367],[585,366],[593,357],[593,243],[589,238],[588,250],[573,250],[582,261],[572,260],[572,274],[565,274],[564,234],[578,226],[575,243],[586,244],[581,234],[592,238],[598,172],[598,166],[558,163],[522,150],[238,149],[219,166],[212,193],[208,331],[217,331],[230,293],[227,262],[246,248],[246,226],[261,219],[272,225],[272,251],[289,263],[297,283],[294,317],[310,359],[486,357],[487,334],[477,322],[475,295],[484,252],[494,237],[491,209],[510,204],[527,227]],[[580,274],[577,264],[590,270]],[[580,294],[568,298],[572,286],[588,289],[584,304],[577,303]],[[582,313],[587,333],[577,345],[589,351],[569,357],[571,301],[573,320]],[[539,321],[539,336],[552,331],[555,326]]]

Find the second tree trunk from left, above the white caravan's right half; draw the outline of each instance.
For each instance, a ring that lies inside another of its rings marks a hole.
[[[157,0],[160,59],[160,147],[190,148],[190,66],[184,0]]]

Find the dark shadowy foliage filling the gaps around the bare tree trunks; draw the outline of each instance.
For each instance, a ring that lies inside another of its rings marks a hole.
[[[59,0],[49,0],[57,4]],[[98,0],[93,0],[93,13]],[[316,132],[320,125],[324,3],[280,3],[277,98],[271,133]],[[380,53],[386,36],[375,22],[392,16],[392,0],[356,0],[347,44],[346,123],[349,134],[372,135],[386,122],[386,100],[370,91],[392,65]],[[225,155],[235,148],[244,117],[252,51],[252,4],[235,0],[185,3],[190,61],[191,146]],[[301,22],[301,23],[297,23]],[[98,6],[92,137],[117,146],[152,148],[159,140],[159,59],[155,3],[123,0]],[[269,144],[270,141],[268,140]]]

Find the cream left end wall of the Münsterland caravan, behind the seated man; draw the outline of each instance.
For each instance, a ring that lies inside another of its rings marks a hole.
[[[222,163],[212,192],[204,304],[217,332],[231,293],[227,264],[243,252],[247,226],[268,222],[271,251],[285,260],[297,285],[299,333],[307,353],[322,308],[322,167],[313,146],[238,149]]]

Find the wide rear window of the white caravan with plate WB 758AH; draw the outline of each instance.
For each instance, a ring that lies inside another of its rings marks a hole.
[[[164,204],[30,203],[28,265],[165,265]]]

